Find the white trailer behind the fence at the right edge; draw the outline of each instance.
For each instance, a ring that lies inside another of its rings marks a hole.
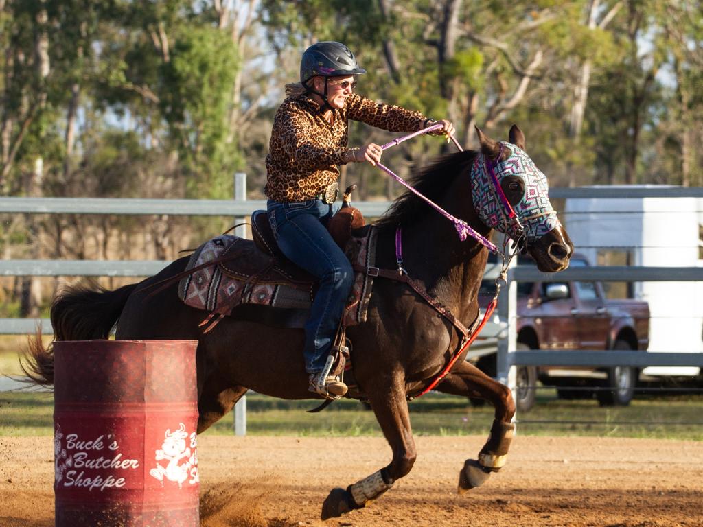
[[[703,266],[702,206],[695,197],[568,198],[564,223],[576,252],[593,265],[696,267]],[[631,294],[650,305],[649,351],[703,351],[703,282],[636,282]],[[647,367],[643,374],[699,375],[699,368]]]

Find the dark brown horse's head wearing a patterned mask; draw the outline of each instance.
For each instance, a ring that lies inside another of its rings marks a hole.
[[[549,201],[547,177],[524,152],[522,131],[513,124],[510,143],[477,132],[481,155],[472,164],[471,181],[479,218],[529,252],[540,271],[567,268],[574,245]]]

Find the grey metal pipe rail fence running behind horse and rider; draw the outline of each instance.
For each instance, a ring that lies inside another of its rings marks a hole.
[[[550,197],[703,197],[703,188],[680,187],[591,187],[553,188]],[[366,217],[382,216],[390,202],[356,202]],[[245,179],[238,174],[235,200],[143,200],[110,198],[53,198],[53,197],[2,197],[0,214],[124,214],[169,216],[234,216],[241,220],[255,209],[266,207],[264,200],[245,199]],[[238,235],[243,235],[238,231]],[[165,267],[169,261],[0,261],[0,276],[108,276],[146,277]],[[489,265],[484,278],[495,278],[497,266]],[[644,366],[695,366],[703,367],[703,353],[641,353],[637,351],[608,350],[529,350],[517,351],[516,306],[517,282],[567,282],[579,281],[701,281],[703,268],[699,267],[647,267],[647,266],[593,266],[569,268],[561,273],[540,273],[536,268],[514,266],[508,272],[507,291],[501,295],[497,318],[486,325],[483,341],[470,350],[470,357],[494,353],[497,349],[498,379],[515,389],[515,366],[560,365],[611,367],[617,365]],[[502,322],[501,322],[502,320]],[[0,334],[32,333],[41,327],[44,334],[51,334],[47,319],[0,319]],[[245,422],[240,424],[245,430]]]

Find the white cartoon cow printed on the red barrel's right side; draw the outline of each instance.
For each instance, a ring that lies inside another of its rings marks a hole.
[[[157,461],[156,468],[151,469],[149,474],[160,481],[161,486],[164,486],[164,481],[174,481],[178,483],[179,488],[183,487],[183,483],[191,478],[188,483],[193,485],[200,481],[198,477],[198,455],[195,447],[197,445],[195,432],[190,434],[191,445],[186,446],[186,438],[188,438],[186,425],[180,423],[178,430],[167,429],[164,434],[164,442],[160,450],[156,450],[155,458]],[[191,448],[193,450],[191,450]],[[192,454],[191,454],[192,452]],[[167,464],[164,467],[159,461],[166,460]],[[185,462],[181,463],[182,460]]]

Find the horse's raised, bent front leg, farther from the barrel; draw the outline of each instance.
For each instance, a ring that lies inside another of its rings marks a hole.
[[[453,368],[439,383],[437,390],[464,397],[479,397],[489,401],[495,408],[491,434],[478,455],[478,461],[466,460],[459,473],[459,493],[482,485],[491,472],[503,467],[508,457],[508,448],[515,431],[512,416],[515,402],[505,384],[491,379],[474,365],[464,362]]]

